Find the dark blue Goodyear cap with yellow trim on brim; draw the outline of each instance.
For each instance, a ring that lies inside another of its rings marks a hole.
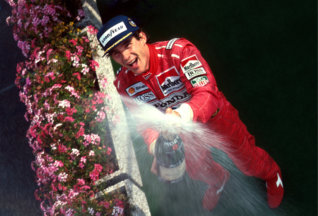
[[[103,48],[104,57],[111,49],[133,36],[139,27],[132,19],[125,16],[117,16],[109,20],[97,32],[96,37]]]

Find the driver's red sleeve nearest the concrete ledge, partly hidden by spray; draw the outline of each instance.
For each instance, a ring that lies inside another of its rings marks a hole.
[[[114,80],[114,85],[117,89],[117,92],[121,95],[122,100],[124,101],[125,105],[128,107],[128,110],[131,112],[132,115],[134,115],[134,110],[136,110],[136,103],[135,101],[131,100],[128,97],[127,92],[120,88],[120,85],[118,85],[118,78]],[[147,127],[147,125],[140,125],[138,121],[136,122],[137,132],[140,133],[140,135],[143,137],[145,144],[148,146],[148,152],[150,153],[149,147],[150,144],[158,138],[159,134],[157,131],[155,131],[152,128]]]

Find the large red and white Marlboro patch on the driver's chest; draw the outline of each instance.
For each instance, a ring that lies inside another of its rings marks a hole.
[[[156,79],[164,96],[173,91],[180,90],[184,86],[175,66],[156,75]]]

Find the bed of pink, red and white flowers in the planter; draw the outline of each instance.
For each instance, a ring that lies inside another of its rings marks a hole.
[[[111,98],[96,91],[99,65],[87,37],[97,30],[89,26],[82,33],[74,27],[84,16],[79,1],[7,1],[13,8],[7,23],[27,57],[17,65],[16,85],[31,121],[27,138],[36,157],[35,196],[44,214],[128,215],[121,192],[90,199],[98,192],[94,181],[118,169],[105,137],[104,100]]]

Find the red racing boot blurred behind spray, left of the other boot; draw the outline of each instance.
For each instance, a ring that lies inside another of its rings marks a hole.
[[[211,211],[218,204],[218,200],[223,190],[223,187],[226,184],[226,182],[230,179],[230,172],[227,170],[224,171],[225,179],[216,185],[210,186],[205,192],[203,198],[203,208],[207,211]]]

